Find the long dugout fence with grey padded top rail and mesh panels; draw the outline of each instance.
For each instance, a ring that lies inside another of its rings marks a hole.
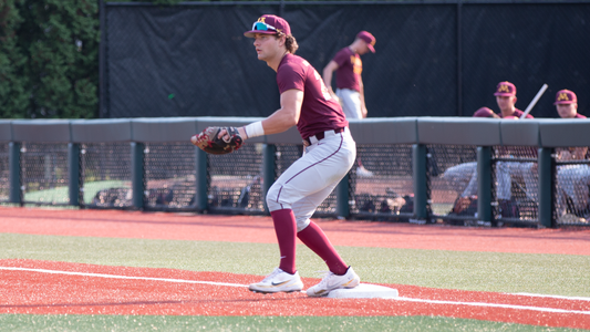
[[[256,120],[3,120],[0,203],[267,215],[265,194],[302,153],[294,127],[222,156],[188,141]],[[590,146],[589,120],[368,118],[350,129],[358,160],[315,217],[588,225],[589,162],[556,149]]]

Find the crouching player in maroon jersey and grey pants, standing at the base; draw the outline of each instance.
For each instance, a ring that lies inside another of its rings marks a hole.
[[[273,293],[300,291],[303,283],[296,269],[299,238],[328,264],[322,281],[307,290],[310,297],[327,295],[339,288],[354,288],[359,276],[346,264],[320,227],[310,220],[354,163],[356,144],[340,104],[322,77],[298,49],[289,23],[277,15],[261,15],[244,35],[253,39],[258,59],[277,72],[281,107],[266,120],[238,128],[245,139],[281,133],[297,125],[304,154],[271,186],[267,205],[279,242],[280,263],[251,291]],[[224,133],[219,134],[219,137]]]

